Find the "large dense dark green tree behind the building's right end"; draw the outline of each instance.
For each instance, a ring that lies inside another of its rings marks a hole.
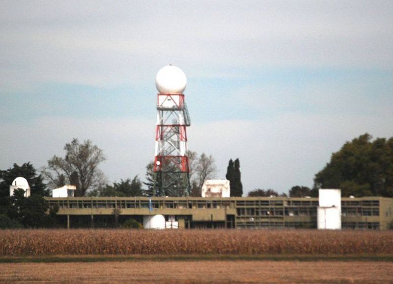
[[[319,188],[340,188],[342,196],[393,197],[393,137],[372,141],[365,133],[346,142],[315,175],[312,196]]]

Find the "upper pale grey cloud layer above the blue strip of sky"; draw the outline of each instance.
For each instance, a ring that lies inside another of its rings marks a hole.
[[[198,1],[3,2],[5,90],[37,82],[146,82],[162,65],[390,69],[393,4]]]

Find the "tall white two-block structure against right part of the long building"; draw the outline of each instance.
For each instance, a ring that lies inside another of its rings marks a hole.
[[[319,189],[318,229],[341,230],[341,190]]]

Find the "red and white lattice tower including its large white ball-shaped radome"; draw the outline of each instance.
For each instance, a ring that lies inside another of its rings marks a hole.
[[[163,67],[156,76],[157,129],[154,158],[155,196],[189,196],[187,127],[191,125],[184,90],[187,78],[175,66]]]

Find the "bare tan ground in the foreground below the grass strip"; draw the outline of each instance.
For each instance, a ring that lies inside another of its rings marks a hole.
[[[0,263],[0,282],[393,283],[393,262],[168,260]]]

